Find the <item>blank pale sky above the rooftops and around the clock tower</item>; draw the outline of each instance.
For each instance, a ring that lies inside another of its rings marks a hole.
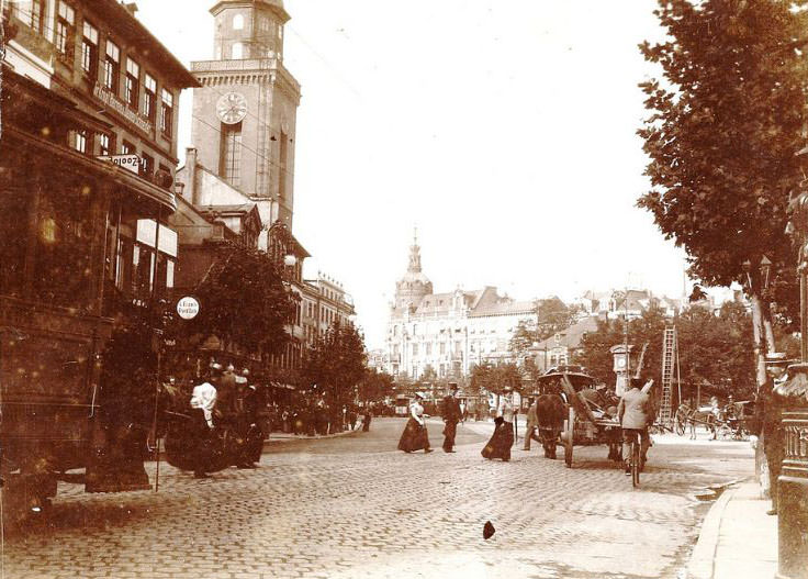
[[[214,3],[138,0],[138,18],[189,65],[212,58]],[[655,0],[284,5],[303,92],[293,233],[307,275],[352,296],[368,347],[384,344],[416,226],[436,292],[682,296],[683,250],[636,207],[650,187],[637,85],[658,74],[637,45],[662,37]],[[180,108],[184,152],[190,91]]]

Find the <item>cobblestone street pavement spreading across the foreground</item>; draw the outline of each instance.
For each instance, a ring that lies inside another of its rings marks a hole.
[[[521,441],[489,461],[491,423],[445,454],[433,420],[436,452],[404,454],[403,426],[271,442],[259,469],[207,480],[162,464],[159,492],[63,486],[47,523],[7,533],[3,578],[683,577],[710,504],[695,494],[751,460],[747,443],[656,437],[635,490],[605,447],[576,447],[572,469]]]

